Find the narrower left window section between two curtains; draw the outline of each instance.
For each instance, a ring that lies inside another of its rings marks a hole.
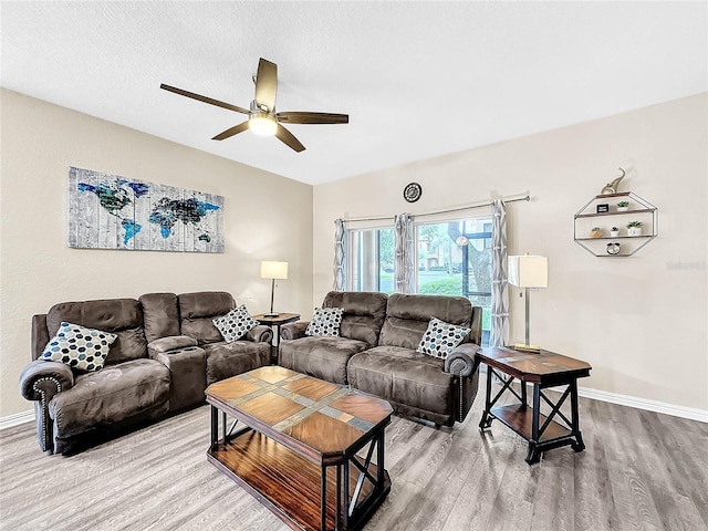
[[[352,291],[394,292],[394,229],[350,231]]]

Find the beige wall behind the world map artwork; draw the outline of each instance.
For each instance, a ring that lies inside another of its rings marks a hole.
[[[2,90],[0,418],[32,408],[18,377],[30,319],[58,302],[225,290],[270,304],[259,262],[290,262],[279,309],[312,309],[312,187]],[[69,166],[225,196],[226,252],[70,249]]]

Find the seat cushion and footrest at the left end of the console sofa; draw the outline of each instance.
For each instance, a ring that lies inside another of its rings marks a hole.
[[[59,434],[67,437],[137,415],[169,397],[169,369],[154,360],[133,360],[76,376],[74,386],[49,404]]]

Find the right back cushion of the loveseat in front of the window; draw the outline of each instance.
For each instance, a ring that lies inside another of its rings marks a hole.
[[[386,320],[378,344],[415,350],[431,317],[450,324],[469,326],[472,305],[464,296],[394,293],[388,298]]]

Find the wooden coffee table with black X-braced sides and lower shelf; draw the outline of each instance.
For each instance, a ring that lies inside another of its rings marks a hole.
[[[217,382],[206,394],[207,459],[292,529],[362,529],[391,491],[386,400],[280,366]]]

